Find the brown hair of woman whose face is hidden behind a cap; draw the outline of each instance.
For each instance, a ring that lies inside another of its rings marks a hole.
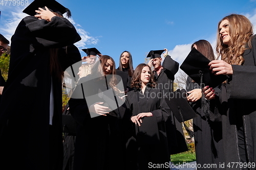
[[[206,58],[208,58],[209,60],[215,60],[214,50],[212,50],[212,46],[208,41],[201,39],[194,42],[191,45],[191,50],[194,45],[197,45],[197,50],[202,53]]]

